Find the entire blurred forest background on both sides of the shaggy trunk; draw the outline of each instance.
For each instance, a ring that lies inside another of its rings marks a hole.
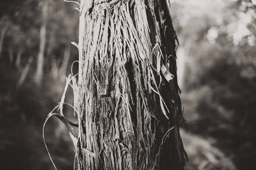
[[[188,127],[187,133],[181,129],[185,169],[255,170],[256,0],[170,3]],[[77,7],[63,0],[0,2],[1,169],[53,169],[42,127],[78,60],[71,44],[78,42]],[[65,102],[73,103],[72,94],[69,89]],[[75,120],[71,108],[64,111]],[[46,142],[57,168],[73,169],[74,146],[55,118],[47,124]]]

